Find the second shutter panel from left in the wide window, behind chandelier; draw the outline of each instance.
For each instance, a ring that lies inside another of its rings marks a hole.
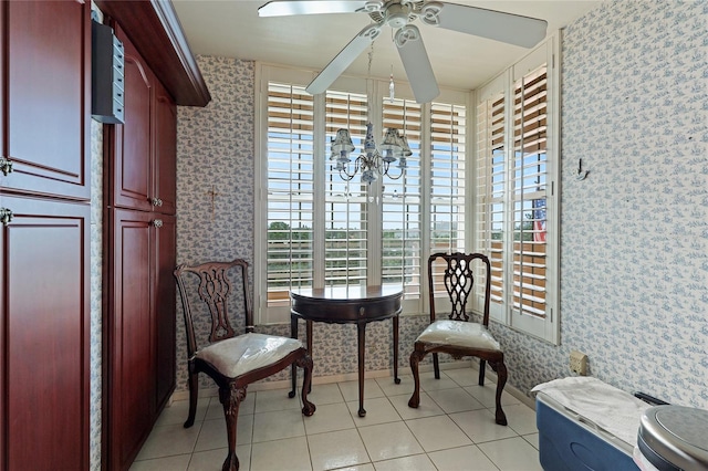
[[[346,128],[354,144],[354,160],[366,136],[366,95],[327,92],[325,103],[326,147],[337,129]],[[326,165],[324,213],[324,284],[366,285],[367,275],[367,185],[361,175],[345,181]]]

